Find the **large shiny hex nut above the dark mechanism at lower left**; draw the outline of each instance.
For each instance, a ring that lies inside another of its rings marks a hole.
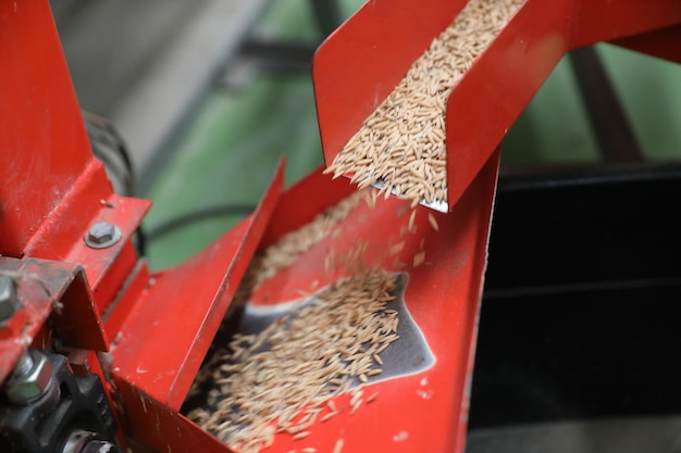
[[[26,354],[4,385],[4,394],[14,404],[37,400],[49,389],[52,380],[52,364],[48,357],[35,350],[28,350]]]

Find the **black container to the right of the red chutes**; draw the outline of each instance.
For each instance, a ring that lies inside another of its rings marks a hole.
[[[502,176],[469,431],[681,415],[681,165]]]

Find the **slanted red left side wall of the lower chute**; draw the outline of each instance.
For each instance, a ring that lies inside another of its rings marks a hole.
[[[282,162],[251,216],[186,262],[151,276],[112,345],[114,376],[170,408],[182,405],[260,242],[283,181]]]

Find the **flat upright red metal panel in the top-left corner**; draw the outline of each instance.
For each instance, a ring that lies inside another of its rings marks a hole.
[[[0,2],[0,253],[21,256],[91,155],[47,0]]]

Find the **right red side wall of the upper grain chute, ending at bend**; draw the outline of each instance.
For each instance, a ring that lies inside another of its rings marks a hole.
[[[528,0],[447,101],[449,210],[568,49],[571,0]]]

